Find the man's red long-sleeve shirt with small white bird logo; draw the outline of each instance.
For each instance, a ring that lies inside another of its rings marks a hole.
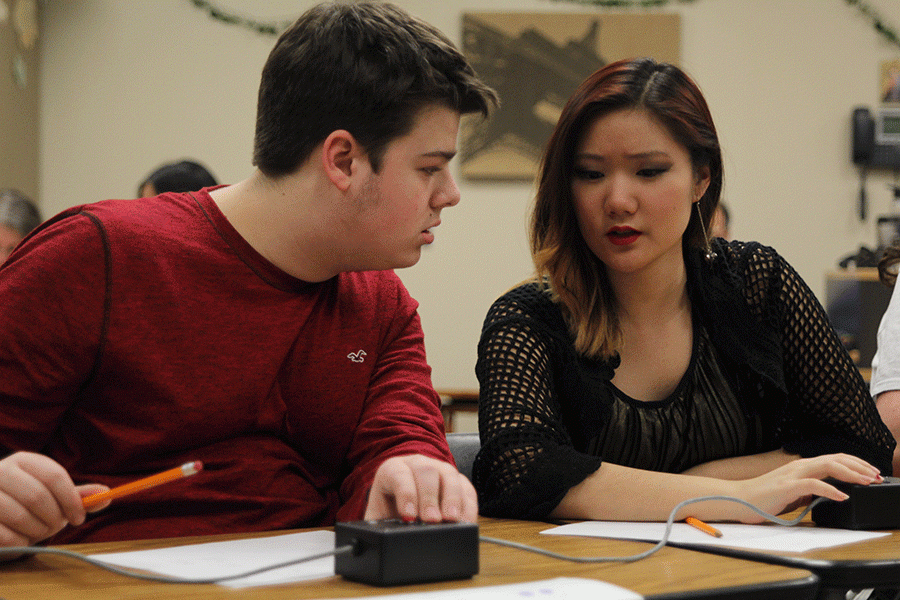
[[[205,192],[70,209],[0,268],[0,447],[110,486],[53,543],[362,517],[385,458],[452,462],[417,304],[392,272],[297,280]]]

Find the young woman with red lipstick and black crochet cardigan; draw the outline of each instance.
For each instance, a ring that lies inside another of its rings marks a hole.
[[[708,239],[721,189],[712,117],[677,67],[611,64],[569,100],[532,215],[537,277],[494,303],[478,347],[482,514],[664,520],[709,495],[780,513],[846,498],[827,477],[890,473],[891,434],[806,284],[771,248]]]

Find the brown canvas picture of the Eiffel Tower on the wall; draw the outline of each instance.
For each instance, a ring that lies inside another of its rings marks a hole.
[[[678,64],[677,14],[478,12],[463,15],[463,51],[501,106],[463,123],[468,179],[531,180],[566,100],[605,64],[638,56]]]

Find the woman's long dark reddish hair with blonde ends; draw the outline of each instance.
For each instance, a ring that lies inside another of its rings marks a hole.
[[[531,253],[539,279],[549,281],[579,352],[612,356],[621,347],[615,298],[606,269],[581,236],[572,197],[575,152],[600,116],[639,108],[657,118],[684,146],[695,173],[710,183],[691,211],[683,245],[705,247],[722,192],[722,153],[712,115],[697,85],[674,65],[650,58],[609,64],[588,77],[569,99],[550,138],[531,218]],[[701,223],[702,219],[702,223]]]

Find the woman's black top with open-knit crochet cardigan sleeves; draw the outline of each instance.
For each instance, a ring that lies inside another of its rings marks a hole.
[[[602,460],[657,471],[784,448],[846,452],[891,471],[894,440],[821,304],[773,249],[714,240],[687,255],[694,349],[661,402],[612,385],[544,286],[491,307],[478,345],[482,449],[473,483],[485,516],[542,519]]]

